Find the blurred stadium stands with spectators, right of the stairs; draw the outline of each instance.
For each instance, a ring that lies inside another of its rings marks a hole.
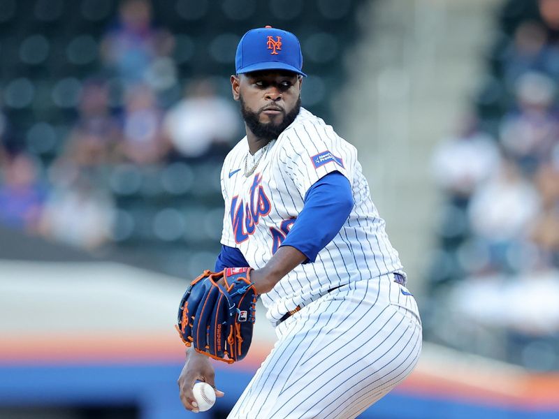
[[[474,110],[435,149],[428,337],[559,368],[559,1],[508,0]],[[504,343],[504,344],[503,344]]]

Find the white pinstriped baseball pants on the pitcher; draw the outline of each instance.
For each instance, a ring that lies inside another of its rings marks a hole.
[[[228,419],[349,419],[412,372],[421,321],[407,289],[384,275],[354,282],[303,307]]]

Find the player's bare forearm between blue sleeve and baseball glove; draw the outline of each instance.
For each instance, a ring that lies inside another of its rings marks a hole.
[[[274,256],[268,260],[266,266],[251,272],[250,277],[254,282],[256,292],[259,294],[268,293],[280,279],[305,260],[307,260],[307,256],[294,247],[279,247]]]

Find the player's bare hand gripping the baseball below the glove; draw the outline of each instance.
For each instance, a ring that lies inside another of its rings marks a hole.
[[[198,413],[198,404],[194,399],[192,388],[196,381],[204,381],[210,384],[217,397],[223,397],[224,392],[215,388],[215,372],[210,362],[210,358],[194,351],[194,348],[187,349],[187,360],[184,362],[182,372],[180,372],[177,384],[179,385],[180,401],[186,409]]]

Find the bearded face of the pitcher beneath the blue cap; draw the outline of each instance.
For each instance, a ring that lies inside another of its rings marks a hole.
[[[290,71],[255,71],[231,76],[247,128],[257,138],[277,138],[300,110],[302,78]]]

